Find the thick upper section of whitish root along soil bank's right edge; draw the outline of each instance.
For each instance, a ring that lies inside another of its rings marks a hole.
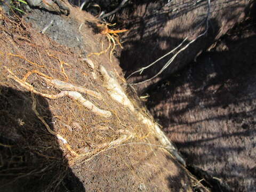
[[[128,107],[131,111],[134,111],[134,106],[132,102],[127,98],[121,85],[119,85],[115,78],[109,76],[107,70],[102,65],[100,66],[100,73],[104,78],[105,86],[110,97],[125,107]]]

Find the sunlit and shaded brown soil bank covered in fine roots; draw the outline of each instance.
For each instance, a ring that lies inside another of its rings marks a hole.
[[[87,57],[0,10],[1,190],[209,191],[127,97],[106,35],[84,20],[98,21],[69,9]]]

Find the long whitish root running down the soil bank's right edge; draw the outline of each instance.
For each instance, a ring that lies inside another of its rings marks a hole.
[[[161,142],[161,144],[163,145],[163,148],[165,148],[167,151],[169,151],[169,153],[175,156],[178,159],[178,161],[181,162],[183,165],[186,165],[186,162],[181,157],[176,147],[166,137],[166,135],[160,129],[160,127],[156,123],[154,123],[151,119],[146,117],[146,115],[134,109],[132,102],[127,98],[121,85],[119,85],[119,83],[116,81],[115,78],[110,77],[110,75],[107,73],[107,70],[103,66],[100,66],[100,73],[104,78],[104,81],[106,84],[105,86],[108,89],[108,94],[110,95],[110,97],[116,100],[117,102],[121,103],[122,105],[128,107],[131,111],[133,111],[134,115],[137,116],[139,121],[147,125],[148,128],[155,133],[154,134],[155,137]]]

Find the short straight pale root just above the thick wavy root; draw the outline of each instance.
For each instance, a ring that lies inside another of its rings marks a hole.
[[[77,92],[81,92],[81,93],[85,93],[85,94],[89,94],[91,96],[93,96],[94,98],[97,98],[99,100],[102,100],[102,96],[100,93],[96,92],[96,91],[92,91],[89,89],[85,89],[82,86],[76,86],[73,85],[71,83],[66,83],[63,81],[60,81],[58,79],[47,79],[45,77],[42,77],[46,82],[52,84],[54,87],[58,88],[58,89],[65,89],[65,90],[70,90],[70,91],[77,91]]]

